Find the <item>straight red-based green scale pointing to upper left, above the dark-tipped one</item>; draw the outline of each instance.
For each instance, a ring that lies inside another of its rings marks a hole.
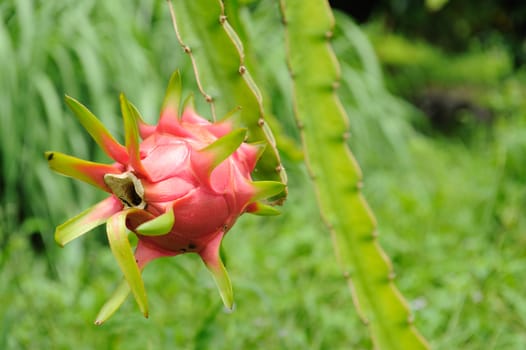
[[[126,149],[117,142],[115,138],[113,138],[100,120],[98,120],[86,106],[73,97],[66,95],[64,99],[73,114],[77,117],[77,120],[82,124],[84,129],[86,129],[104,153],[113,160],[121,164],[126,164],[128,160]]]

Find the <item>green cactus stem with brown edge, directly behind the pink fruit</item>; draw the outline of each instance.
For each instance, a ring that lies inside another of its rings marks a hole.
[[[265,121],[261,92],[245,65],[243,44],[227,20],[223,2],[167,1],[177,40],[190,57],[198,89],[209,102],[213,118],[240,108],[234,122],[248,129],[247,141],[268,145],[257,173],[286,184],[276,142]],[[276,203],[285,196],[286,190],[275,198]]]

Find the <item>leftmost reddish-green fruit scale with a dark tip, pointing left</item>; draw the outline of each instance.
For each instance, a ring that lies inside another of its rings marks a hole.
[[[121,166],[117,164],[90,162],[88,160],[54,151],[45,152],[44,155],[52,170],[62,175],[86,182],[110,193],[110,189],[106,183],[104,183],[104,175],[122,173]]]

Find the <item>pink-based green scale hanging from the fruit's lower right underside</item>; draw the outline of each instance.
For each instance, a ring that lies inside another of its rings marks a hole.
[[[223,304],[226,308],[232,310],[234,307],[232,282],[230,281],[230,277],[219,253],[223,236],[224,232],[217,234],[212,241],[208,242],[204,249],[199,252],[199,255],[214,278]]]

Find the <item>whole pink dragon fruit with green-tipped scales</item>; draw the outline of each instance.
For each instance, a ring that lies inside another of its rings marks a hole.
[[[179,115],[180,93],[181,80],[176,72],[156,126],[145,124],[137,109],[121,95],[124,146],[86,107],[66,97],[80,123],[115,161],[99,164],[46,152],[51,169],[110,193],[55,232],[57,243],[63,246],[107,223],[110,248],[125,281],[103,306],[96,324],[117,310],[130,289],[147,317],[141,270],[152,259],[190,252],[200,255],[225,306],[231,308],[232,286],[219,255],[221,240],[244,212],[278,213],[260,200],[279,194],[285,185],[255,182],[250,176],[264,146],[245,143],[246,129],[233,130],[229,121],[210,123],[201,118],[191,99]],[[128,241],[130,231],[138,237],[135,254]]]

